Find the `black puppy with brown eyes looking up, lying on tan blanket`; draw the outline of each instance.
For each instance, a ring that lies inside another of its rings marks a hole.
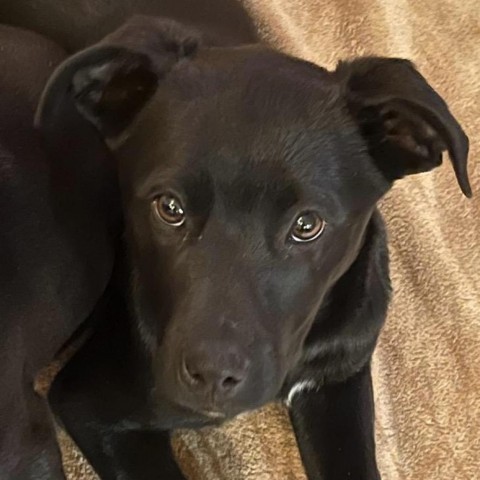
[[[408,61],[328,72],[252,44],[243,20],[198,15],[135,17],[44,92],[52,158],[82,143],[80,116],[98,132],[85,145],[109,146],[125,237],[53,409],[105,479],[183,479],[170,430],[274,399],[310,479],[379,478],[369,364],[390,287],[376,203],[445,150],[470,196],[467,138]]]

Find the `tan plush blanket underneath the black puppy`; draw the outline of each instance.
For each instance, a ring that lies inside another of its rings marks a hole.
[[[478,0],[246,0],[261,31],[327,67],[354,55],[414,60],[471,139],[473,200],[448,164],[382,205],[395,299],[374,362],[384,480],[480,478],[480,4]],[[95,478],[64,441],[70,479]],[[191,480],[305,478],[279,406],[176,442]]]

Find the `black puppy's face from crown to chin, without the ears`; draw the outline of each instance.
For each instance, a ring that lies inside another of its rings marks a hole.
[[[387,182],[337,91],[276,52],[200,51],[116,149],[138,321],[179,403],[272,399],[354,260]]]

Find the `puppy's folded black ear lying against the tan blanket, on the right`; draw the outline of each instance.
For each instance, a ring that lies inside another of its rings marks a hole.
[[[370,154],[388,180],[431,170],[448,151],[460,188],[471,197],[468,137],[411,62],[360,58],[341,62],[335,75]]]

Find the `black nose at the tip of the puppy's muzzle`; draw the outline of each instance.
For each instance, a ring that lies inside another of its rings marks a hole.
[[[240,390],[249,362],[238,352],[197,348],[183,357],[182,377],[193,393],[221,404]]]

